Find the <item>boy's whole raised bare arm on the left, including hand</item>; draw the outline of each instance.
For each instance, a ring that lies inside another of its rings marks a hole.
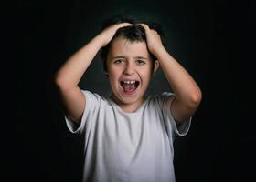
[[[111,25],[103,30],[101,34],[96,35],[87,45],[84,45],[74,55],[70,56],[55,75],[55,83],[59,88],[59,96],[64,112],[78,124],[80,124],[80,117],[86,105],[85,96],[78,86],[80,78],[101,47],[107,45],[112,40],[116,30],[125,25],[130,24]]]

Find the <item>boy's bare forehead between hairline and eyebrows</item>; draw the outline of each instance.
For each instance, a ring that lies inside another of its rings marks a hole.
[[[123,37],[115,38],[109,50],[109,56],[137,57],[144,56],[150,58],[145,42],[133,41]]]

